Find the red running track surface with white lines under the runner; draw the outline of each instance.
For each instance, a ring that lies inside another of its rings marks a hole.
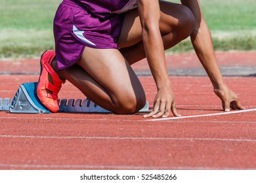
[[[20,84],[37,78],[0,75],[0,96],[13,97]],[[177,108],[188,118],[0,112],[0,169],[256,169],[256,110],[224,113],[207,77],[170,78]],[[140,80],[152,107],[154,80]],[[256,108],[256,77],[225,80],[242,105]],[[69,82],[59,97],[85,98]]]

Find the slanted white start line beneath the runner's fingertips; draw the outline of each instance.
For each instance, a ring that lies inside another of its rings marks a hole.
[[[213,113],[213,114],[201,114],[201,115],[181,116],[181,117],[171,117],[171,118],[158,118],[158,119],[151,119],[151,120],[146,120],[146,121],[156,122],[156,121],[166,121],[166,120],[179,120],[179,119],[186,119],[186,118],[200,118],[200,117],[207,117],[207,116],[237,114],[237,113],[244,113],[244,112],[251,112],[251,111],[256,111],[256,108],[251,108],[251,109],[247,109],[247,110],[236,110],[236,111],[230,111],[230,112],[219,112],[219,113]]]

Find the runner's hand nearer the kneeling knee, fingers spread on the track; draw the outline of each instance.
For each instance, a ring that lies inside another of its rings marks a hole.
[[[158,90],[158,94],[155,97],[153,111],[144,115],[144,118],[167,118],[170,112],[173,112],[174,116],[181,116],[176,109],[173,90],[171,88],[162,88]]]

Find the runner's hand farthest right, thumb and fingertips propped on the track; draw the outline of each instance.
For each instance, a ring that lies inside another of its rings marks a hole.
[[[215,94],[221,99],[223,104],[223,110],[228,112],[230,108],[236,110],[244,110],[242,107],[238,95],[234,93],[226,84],[219,88],[214,89]]]

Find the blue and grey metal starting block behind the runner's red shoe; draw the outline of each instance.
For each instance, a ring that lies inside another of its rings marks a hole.
[[[52,113],[39,100],[36,93],[37,82],[28,82],[20,85],[13,99],[0,98],[0,110],[10,111],[12,113],[31,113],[31,114],[48,114]],[[112,113],[89,99],[62,99],[59,101],[60,110],[58,112],[100,112]],[[139,112],[150,112],[148,101]]]

